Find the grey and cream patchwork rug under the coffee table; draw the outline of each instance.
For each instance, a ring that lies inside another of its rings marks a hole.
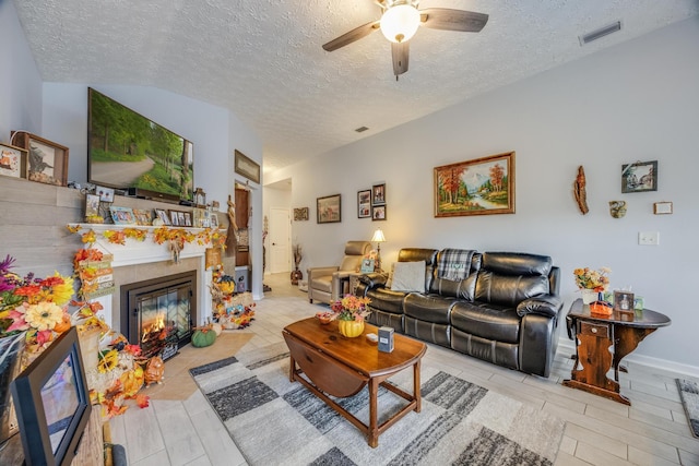
[[[366,437],[298,382],[288,379],[284,343],[190,370],[250,465],[552,465],[564,421],[488,391],[446,368],[422,365],[420,413],[379,437]],[[391,379],[412,392],[412,371]],[[363,390],[336,399],[368,423]],[[404,403],[380,389],[379,423]],[[383,417],[383,419],[381,419]]]

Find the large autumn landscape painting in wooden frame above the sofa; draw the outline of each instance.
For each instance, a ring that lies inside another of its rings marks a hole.
[[[435,167],[435,217],[514,213],[514,152]]]

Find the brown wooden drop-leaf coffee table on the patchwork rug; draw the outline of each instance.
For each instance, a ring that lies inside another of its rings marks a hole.
[[[407,413],[420,410],[419,363],[427,346],[403,335],[394,335],[393,351],[379,351],[376,343],[367,340],[367,333],[378,333],[366,324],[363,335],[346,338],[340,334],[337,322],[321,325],[315,318],[287,325],[282,334],[291,353],[289,380],[298,381],[328,406],[340,413],[368,437],[371,447],[379,444],[379,435]],[[413,368],[413,393],[386,381],[406,368]],[[306,373],[306,378],[300,377]],[[310,382],[309,382],[310,381]],[[369,423],[366,425],[328,395],[353,396],[368,385]],[[407,401],[407,404],[380,426],[377,421],[379,385]]]

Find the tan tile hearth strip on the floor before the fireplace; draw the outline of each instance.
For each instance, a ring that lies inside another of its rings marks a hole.
[[[198,390],[189,375],[189,369],[230,357],[240,350],[254,335],[238,331],[224,331],[213,345],[196,348],[191,344],[179,349],[165,362],[163,383],[141,389],[141,394],[153,399],[188,399]]]

